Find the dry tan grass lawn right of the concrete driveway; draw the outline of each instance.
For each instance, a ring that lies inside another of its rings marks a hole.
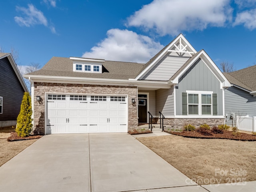
[[[137,139],[200,185],[256,180],[256,142],[176,135]]]

